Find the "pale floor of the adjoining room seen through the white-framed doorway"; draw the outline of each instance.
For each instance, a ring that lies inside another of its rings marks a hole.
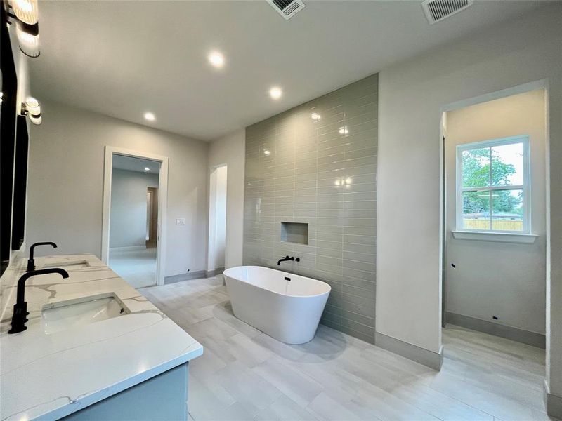
[[[139,250],[110,250],[109,267],[133,288],[156,285],[156,246]]]

